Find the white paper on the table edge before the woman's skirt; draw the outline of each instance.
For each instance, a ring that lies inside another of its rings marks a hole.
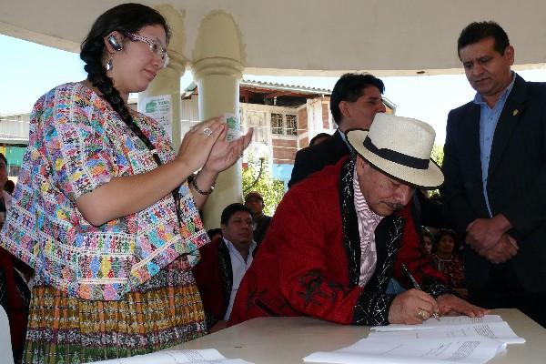
[[[243,359],[226,359],[217,349],[157,351],[130,358],[95,361],[90,364],[252,364]]]

